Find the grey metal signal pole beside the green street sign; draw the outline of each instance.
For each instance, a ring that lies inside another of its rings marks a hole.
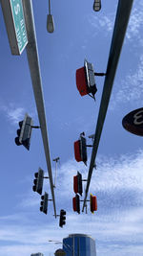
[[[38,57],[38,49],[35,35],[34,19],[31,0],[23,0],[23,8],[26,20],[27,34],[28,34],[28,45],[27,45],[27,57],[29,61],[31,71],[32,89],[34,93],[35,103],[38,112],[39,124],[41,128],[41,134],[43,139],[44,151],[46,156],[46,162],[48,167],[48,174],[51,185],[51,198],[53,202],[54,216],[56,218],[56,207],[53,190],[52,172],[51,172],[51,154],[48,138],[48,129],[46,121],[46,112],[43,98],[42,79],[40,72],[40,63]]]

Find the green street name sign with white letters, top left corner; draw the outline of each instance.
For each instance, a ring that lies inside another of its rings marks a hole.
[[[1,0],[12,55],[21,55],[28,37],[22,0]]]

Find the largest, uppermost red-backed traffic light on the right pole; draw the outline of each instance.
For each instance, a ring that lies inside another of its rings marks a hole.
[[[89,94],[93,99],[97,91],[92,63],[86,59],[84,67],[76,70],[76,86],[81,96]],[[91,95],[92,94],[92,95]]]

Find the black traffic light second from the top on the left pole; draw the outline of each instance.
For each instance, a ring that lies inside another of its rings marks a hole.
[[[34,185],[32,186],[32,190],[42,195],[44,171],[39,168],[38,173],[35,173],[34,176],[35,179],[33,180]]]

